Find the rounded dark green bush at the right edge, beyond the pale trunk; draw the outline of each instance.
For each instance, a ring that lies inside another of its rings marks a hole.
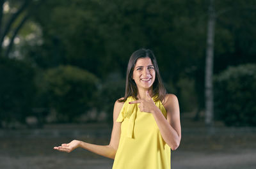
[[[256,64],[230,67],[215,77],[215,114],[227,126],[256,126]]]

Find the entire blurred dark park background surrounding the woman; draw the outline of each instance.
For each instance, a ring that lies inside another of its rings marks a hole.
[[[179,99],[173,168],[255,167],[255,18],[253,0],[0,0],[0,168],[111,168],[52,147],[108,144],[139,48]]]

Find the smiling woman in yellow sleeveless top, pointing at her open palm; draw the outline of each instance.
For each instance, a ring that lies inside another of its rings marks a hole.
[[[166,94],[153,52],[140,49],[129,59],[125,96],[115,102],[109,145],[73,140],[54,149],[82,147],[115,159],[114,169],[170,169],[170,152],[180,138],[178,99]]]

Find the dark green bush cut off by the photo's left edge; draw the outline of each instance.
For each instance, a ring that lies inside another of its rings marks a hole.
[[[25,123],[32,114],[36,86],[35,71],[24,61],[0,57],[0,119],[5,126]],[[2,123],[0,123],[1,126]]]

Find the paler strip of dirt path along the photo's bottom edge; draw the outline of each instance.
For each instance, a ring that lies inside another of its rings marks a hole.
[[[240,154],[204,154],[198,152],[175,152],[172,154],[172,168],[175,169],[254,169],[256,166],[256,152],[242,152]],[[56,168],[111,168],[111,159],[86,159],[60,156],[0,156],[0,168],[3,169],[56,169]]]

